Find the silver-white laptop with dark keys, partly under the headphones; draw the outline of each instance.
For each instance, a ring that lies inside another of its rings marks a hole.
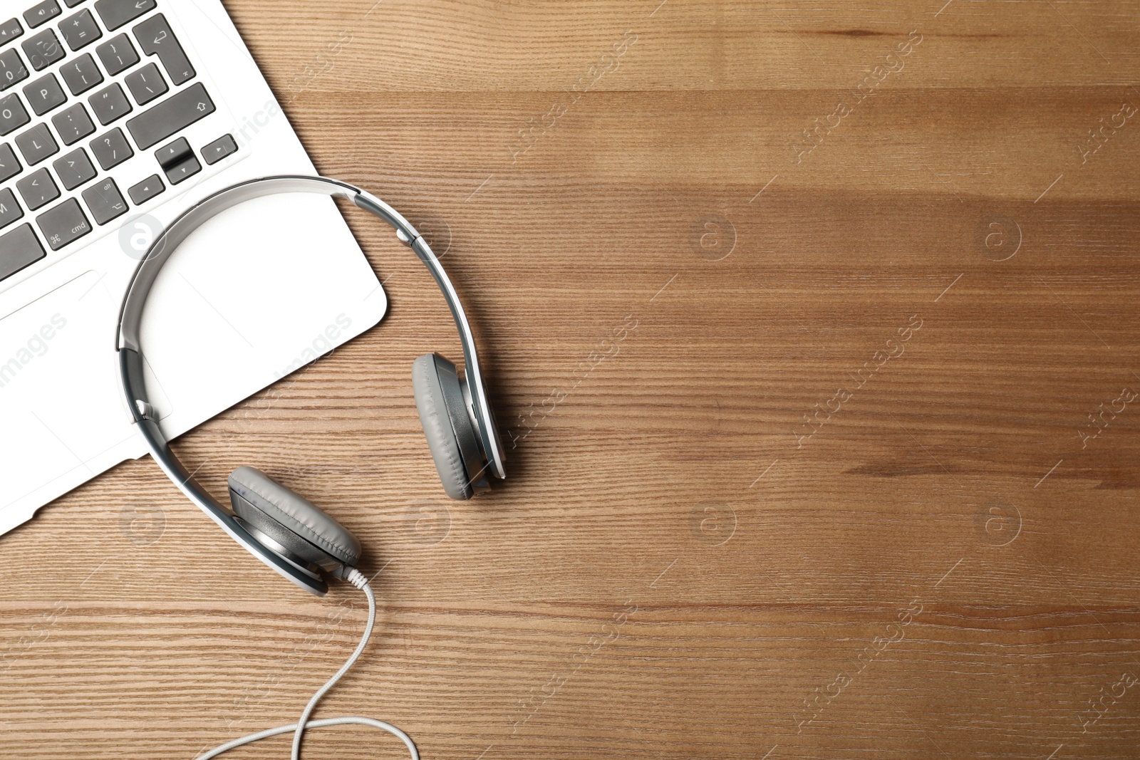
[[[0,533],[145,453],[115,324],[201,198],[316,170],[218,0],[0,0]],[[177,436],[368,329],[386,297],[331,198],[231,209],[163,269],[147,385]]]

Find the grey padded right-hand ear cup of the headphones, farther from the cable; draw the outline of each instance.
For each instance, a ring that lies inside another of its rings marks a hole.
[[[479,433],[455,365],[438,353],[425,353],[412,365],[412,390],[443,490],[453,499],[487,490]]]

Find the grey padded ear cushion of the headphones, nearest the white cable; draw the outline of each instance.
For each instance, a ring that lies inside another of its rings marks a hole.
[[[360,542],[344,525],[260,469],[235,469],[229,499],[238,517],[308,562],[332,557],[355,566],[360,561]]]

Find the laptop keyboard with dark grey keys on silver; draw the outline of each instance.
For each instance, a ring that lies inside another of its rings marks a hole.
[[[179,137],[217,108],[157,6],[43,0],[0,23],[0,280],[237,153]]]

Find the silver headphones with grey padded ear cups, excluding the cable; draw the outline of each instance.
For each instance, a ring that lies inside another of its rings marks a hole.
[[[504,479],[503,448],[475,353],[471,326],[439,259],[416,229],[374,195],[324,177],[264,177],[219,190],[193,206],[150,244],[127,288],[119,316],[116,345],[123,398],[150,456],[176,485],[254,556],[301,588],[323,596],[326,571],[347,578],[360,559],[360,542],[343,525],[304,497],[253,467],[229,476],[233,514],[198,484],[170,450],[150,406],[142,375],[139,326],[150,286],[178,246],[204,221],[239,203],[278,193],[317,193],[347,198],[393,228],[431,271],[459,329],[466,377],[437,353],[412,366],[416,409],[443,490],[453,499],[470,499],[490,490],[487,472]]]

